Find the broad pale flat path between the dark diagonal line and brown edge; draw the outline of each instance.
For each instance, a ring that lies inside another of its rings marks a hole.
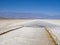
[[[54,45],[44,28],[23,27],[0,36],[0,45]]]

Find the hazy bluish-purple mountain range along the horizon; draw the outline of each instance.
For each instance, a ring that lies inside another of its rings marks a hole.
[[[6,18],[26,18],[26,19],[60,19],[60,15],[34,14],[34,13],[14,13],[14,12],[0,12],[0,19]]]

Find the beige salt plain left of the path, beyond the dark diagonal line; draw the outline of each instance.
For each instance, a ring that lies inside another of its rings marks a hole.
[[[14,28],[21,27],[21,24],[24,24],[29,21],[30,20],[23,20],[23,19],[0,20],[0,34]]]

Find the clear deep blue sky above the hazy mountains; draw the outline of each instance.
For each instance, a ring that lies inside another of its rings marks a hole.
[[[0,13],[1,12],[37,13],[59,17],[60,0],[0,0]],[[0,14],[0,16],[5,15]],[[37,17],[39,17],[39,15]]]

